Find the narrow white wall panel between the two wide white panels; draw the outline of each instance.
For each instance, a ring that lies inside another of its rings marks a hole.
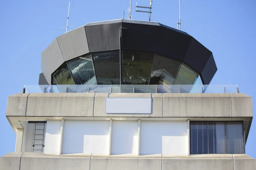
[[[138,153],[138,121],[113,121],[112,122],[113,154]]]

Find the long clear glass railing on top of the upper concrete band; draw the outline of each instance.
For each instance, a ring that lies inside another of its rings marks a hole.
[[[237,85],[25,85],[25,93],[239,93]]]

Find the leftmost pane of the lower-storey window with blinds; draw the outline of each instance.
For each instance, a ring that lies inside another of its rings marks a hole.
[[[203,154],[207,151],[207,122],[190,123],[190,153]]]

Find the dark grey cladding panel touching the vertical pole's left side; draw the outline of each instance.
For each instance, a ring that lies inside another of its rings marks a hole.
[[[106,50],[119,49],[119,30],[121,23],[103,25]]]

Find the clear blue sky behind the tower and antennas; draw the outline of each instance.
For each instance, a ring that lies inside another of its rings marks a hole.
[[[5,0],[0,6],[0,156],[14,152],[15,132],[6,119],[7,97],[21,93],[24,84],[37,85],[41,52],[65,32],[69,0]],[[129,0],[70,0],[69,25],[122,18]],[[148,6],[148,0],[137,0]],[[241,93],[253,97],[256,111],[256,1],[181,0],[182,31],[212,51],[218,71],[211,84],[238,84]],[[148,20],[135,12],[132,18]],[[152,21],[177,27],[178,0],[154,0]],[[127,12],[127,11],[126,11]],[[125,13],[127,17],[127,13]],[[75,28],[76,28],[75,27]],[[246,152],[256,158],[256,120],[253,120]]]

